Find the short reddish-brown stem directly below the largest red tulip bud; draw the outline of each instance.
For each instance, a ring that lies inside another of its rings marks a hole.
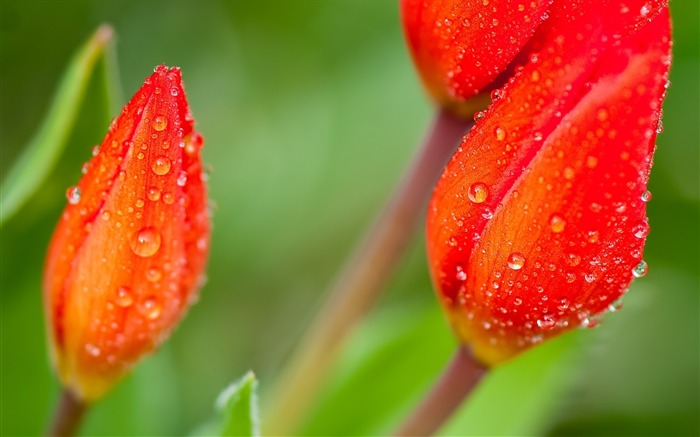
[[[433,435],[476,387],[486,370],[465,346],[460,346],[433,389],[394,435]]]

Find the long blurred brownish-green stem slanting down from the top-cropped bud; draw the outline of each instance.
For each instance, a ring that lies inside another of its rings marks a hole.
[[[403,180],[281,375],[265,420],[269,435],[293,433],[303,420],[339,345],[393,273],[438,177],[469,126],[469,121],[444,110],[437,113]]]

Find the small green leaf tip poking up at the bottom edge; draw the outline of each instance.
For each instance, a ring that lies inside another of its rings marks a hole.
[[[259,436],[258,380],[248,372],[224,390],[216,401],[223,413],[222,436]]]

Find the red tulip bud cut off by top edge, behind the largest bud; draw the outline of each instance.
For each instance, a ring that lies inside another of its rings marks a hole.
[[[432,97],[471,114],[547,18],[552,0],[402,0],[408,47]]]

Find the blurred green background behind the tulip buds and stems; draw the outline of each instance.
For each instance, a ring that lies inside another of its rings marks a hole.
[[[44,117],[71,54],[105,22],[117,33],[125,97],[155,65],[182,67],[212,164],[217,207],[201,299],[167,345],[94,408],[84,435],[207,434],[216,396],[248,369],[265,401],[432,117],[397,2],[0,5],[3,176]],[[494,372],[443,433],[700,433],[698,2],[674,0],[671,9],[674,64],[650,182],[650,273],[601,327]],[[2,229],[2,435],[40,434],[56,402],[41,304],[44,251],[65,189],[114,115],[90,88],[57,167]],[[300,432],[390,431],[454,347],[418,231]]]

